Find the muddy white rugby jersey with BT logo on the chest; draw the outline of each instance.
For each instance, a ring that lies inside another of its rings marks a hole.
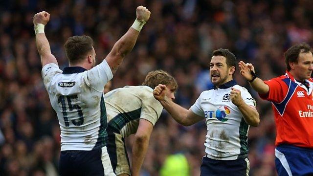
[[[256,106],[246,88],[232,80],[220,88],[203,91],[191,110],[205,118],[207,135],[205,136],[205,153],[209,158],[234,160],[246,158],[248,154],[247,134],[249,125],[241,111],[230,100],[231,88],[241,91],[245,103]]]

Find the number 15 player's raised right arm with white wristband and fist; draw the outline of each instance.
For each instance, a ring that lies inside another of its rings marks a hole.
[[[112,73],[121,65],[124,57],[133,49],[142,26],[149,20],[150,11],[143,6],[136,9],[136,20],[132,27],[113,46],[106,57]]]

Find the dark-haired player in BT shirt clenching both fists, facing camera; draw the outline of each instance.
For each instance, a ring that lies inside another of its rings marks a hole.
[[[201,176],[247,176],[247,133],[249,125],[258,126],[259,113],[255,100],[233,80],[236,57],[228,49],[213,52],[210,78],[214,85],[203,91],[195,104],[186,110],[170,101],[158,85],[153,94],[173,118],[184,126],[205,119],[206,156],[202,158]]]

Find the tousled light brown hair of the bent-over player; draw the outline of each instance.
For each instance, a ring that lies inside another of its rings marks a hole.
[[[163,70],[150,71],[142,83],[143,86],[150,88],[155,88],[159,84],[171,86],[174,91],[178,88],[175,78]]]

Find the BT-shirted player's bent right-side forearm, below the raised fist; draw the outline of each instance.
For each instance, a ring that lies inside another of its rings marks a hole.
[[[251,108],[245,102],[237,107],[243,114],[244,119],[248,125],[251,125],[253,127],[257,127],[259,125],[260,117],[259,113],[255,109]]]

